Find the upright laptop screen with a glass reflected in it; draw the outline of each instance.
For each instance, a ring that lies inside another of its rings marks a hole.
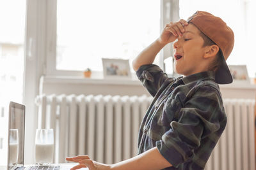
[[[8,166],[24,165],[25,106],[10,103],[8,132]]]

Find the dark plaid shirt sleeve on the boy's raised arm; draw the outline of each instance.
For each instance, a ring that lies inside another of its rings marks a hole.
[[[136,71],[136,74],[143,86],[153,97],[156,95],[164,81],[168,79],[167,74],[155,64],[141,66],[138,71]]]

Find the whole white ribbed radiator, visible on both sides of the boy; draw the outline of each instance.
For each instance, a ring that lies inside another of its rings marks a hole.
[[[113,164],[137,153],[140,122],[152,97],[38,96],[38,128],[52,128],[56,163],[88,154]],[[224,99],[227,127],[206,170],[255,169],[254,100]]]

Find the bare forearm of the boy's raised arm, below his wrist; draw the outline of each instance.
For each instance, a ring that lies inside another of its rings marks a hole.
[[[156,58],[157,53],[165,46],[158,39],[151,45],[145,48],[137,57],[132,61],[132,67],[134,71],[137,71],[140,66],[145,64],[152,64]]]

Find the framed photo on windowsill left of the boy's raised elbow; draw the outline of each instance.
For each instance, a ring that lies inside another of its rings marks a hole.
[[[102,58],[104,78],[131,79],[129,60]]]

